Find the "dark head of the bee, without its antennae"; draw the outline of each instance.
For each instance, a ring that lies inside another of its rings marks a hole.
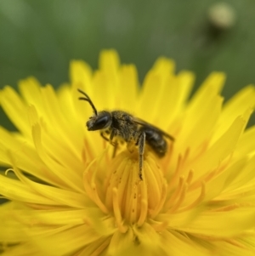
[[[111,113],[100,111],[96,116],[89,117],[86,122],[88,131],[101,130],[111,126]]]

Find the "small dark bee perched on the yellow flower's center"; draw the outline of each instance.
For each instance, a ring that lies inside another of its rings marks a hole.
[[[138,117],[133,117],[125,111],[97,111],[93,101],[81,89],[78,92],[83,96],[79,100],[88,101],[92,107],[94,116],[89,117],[86,126],[88,131],[100,130],[103,139],[114,145],[114,153],[119,143],[125,142],[128,145],[136,145],[139,149],[139,179],[143,180],[142,171],[144,166],[144,147],[149,145],[157,156],[165,156],[167,152],[167,141],[165,138],[174,141],[173,136],[165,133],[160,128]]]

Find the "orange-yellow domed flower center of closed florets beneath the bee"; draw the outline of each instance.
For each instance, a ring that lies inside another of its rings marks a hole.
[[[167,194],[167,183],[156,156],[144,154],[143,180],[139,179],[138,152],[122,151],[114,159],[104,154],[85,171],[84,185],[88,195],[104,213],[116,218],[120,230],[126,225],[143,225],[160,212]]]

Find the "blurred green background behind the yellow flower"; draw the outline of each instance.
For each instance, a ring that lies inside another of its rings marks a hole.
[[[99,51],[116,48],[122,62],[137,65],[140,81],[161,55],[178,71],[194,71],[196,87],[224,71],[229,99],[255,81],[254,25],[254,0],[3,0],[0,87],[31,75],[58,87],[68,81],[70,60],[96,68]],[[12,128],[3,112],[0,118]]]

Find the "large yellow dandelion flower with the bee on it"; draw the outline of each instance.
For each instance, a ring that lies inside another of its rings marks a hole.
[[[71,62],[56,92],[34,78],[1,91],[18,132],[0,128],[3,255],[255,255],[252,86],[224,103],[224,74],[189,100],[194,76],[161,58],[139,89],[134,65],[104,51],[99,70]],[[97,110],[122,110],[173,135],[159,158],[148,143],[113,147],[88,131]]]

